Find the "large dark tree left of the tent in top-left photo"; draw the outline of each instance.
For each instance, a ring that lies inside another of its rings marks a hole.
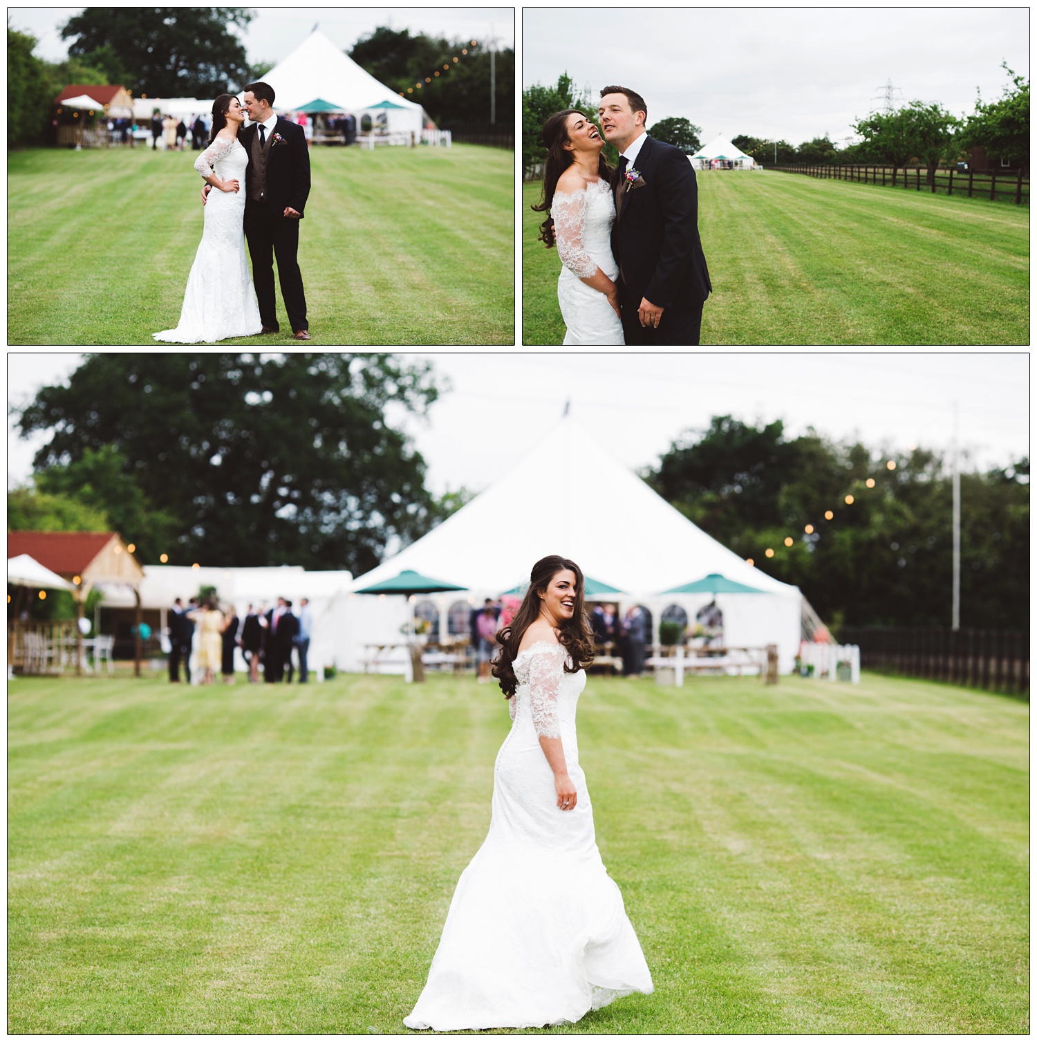
[[[105,69],[134,95],[212,98],[249,80],[245,47],[230,27],[246,7],[84,7],[61,28],[69,55]]]

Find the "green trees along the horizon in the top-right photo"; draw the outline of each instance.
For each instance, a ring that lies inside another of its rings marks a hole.
[[[968,157],[982,147],[988,155],[1006,159],[1013,166],[1030,164],[1030,81],[1002,66],[1009,83],[1002,97],[984,102],[977,91],[976,107],[959,118],[937,102],[912,101],[891,111],[871,113],[854,123],[860,139],[840,148],[828,134],[791,145],[751,134],[737,134],[731,143],[764,165],[797,164],[834,166],[839,164],[885,165],[905,167],[915,163],[927,169],[933,183],[941,162]],[[553,86],[534,84],[522,92],[522,164],[525,177],[534,176],[546,151],[540,139],[544,121],[551,113],[565,108],[579,109],[597,120],[597,100],[585,98],[571,77],[563,73]],[[648,128],[659,141],[683,149],[689,155],[701,148],[701,128],[684,117],[660,120]],[[606,144],[606,159],[615,165],[615,146]]]

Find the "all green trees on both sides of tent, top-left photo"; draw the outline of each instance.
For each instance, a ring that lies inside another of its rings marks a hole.
[[[8,147],[52,141],[54,99],[69,83],[121,83],[133,97],[153,98],[240,91],[273,67],[265,60],[250,65],[234,33],[253,17],[244,7],[87,7],[61,26],[69,56],[58,63],[40,58],[35,38],[8,26],[7,82],[17,84],[7,102]],[[420,101],[439,126],[489,126],[490,53],[484,43],[472,47],[471,41],[379,26],[346,53],[376,79]],[[497,51],[494,63],[496,127],[512,132],[514,50]]]

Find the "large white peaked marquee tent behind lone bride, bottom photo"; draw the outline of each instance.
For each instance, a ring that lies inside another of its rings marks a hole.
[[[445,631],[449,605],[482,603],[528,579],[542,556],[559,553],[584,574],[624,591],[620,610],[639,603],[653,620],[656,640],[665,607],[690,619],[709,594],[663,594],[718,572],[762,594],[718,594],[730,646],[776,644],[789,671],[800,638],[798,588],[780,582],[722,546],[657,495],[572,417],[560,424],[510,473],[428,535],[361,576],[352,590],[393,578],[403,569],[456,584],[465,593],[428,599]],[[423,599],[423,598],[418,598]],[[399,640],[406,619],[402,597],[350,592],[328,605],[341,635],[337,665],[357,669],[364,644]],[[402,671],[402,652],[400,669]]]

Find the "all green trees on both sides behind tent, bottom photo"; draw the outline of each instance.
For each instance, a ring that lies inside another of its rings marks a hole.
[[[434,496],[387,416],[422,415],[445,391],[431,366],[391,354],[89,355],[16,411],[22,433],[50,440],[8,493],[8,528],[117,530],[142,564],[360,575],[471,498]],[[950,475],[936,450],[722,416],[642,476],[836,629],[949,623]],[[1029,477],[1027,458],[962,475],[963,626],[1029,624]]]

